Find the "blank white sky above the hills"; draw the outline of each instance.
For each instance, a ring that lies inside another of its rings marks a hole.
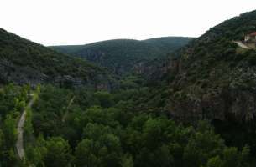
[[[0,28],[44,45],[198,37],[256,0],[0,0]]]

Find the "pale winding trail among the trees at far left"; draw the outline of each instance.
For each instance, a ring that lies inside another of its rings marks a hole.
[[[16,149],[18,152],[18,158],[23,160],[25,158],[25,151],[24,151],[24,123],[26,120],[27,110],[31,108],[34,104],[34,94],[30,94],[31,99],[29,100],[29,104],[25,107],[19,121],[18,121],[18,139],[16,142]]]

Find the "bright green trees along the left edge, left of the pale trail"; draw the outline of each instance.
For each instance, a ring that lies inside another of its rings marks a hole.
[[[17,139],[19,116],[29,99],[29,87],[8,85],[0,89],[0,165],[20,164],[14,145]]]

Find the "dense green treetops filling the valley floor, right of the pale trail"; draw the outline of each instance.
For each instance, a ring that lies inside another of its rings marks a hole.
[[[175,124],[164,114],[140,112],[133,101],[138,96],[136,91],[143,90],[134,90],[129,99],[119,99],[119,93],[42,87],[32,109],[34,133],[30,138],[34,139],[28,140],[27,134],[26,163],[147,167],[249,165],[249,149],[227,147],[206,121],[195,127],[184,126]],[[106,106],[104,102],[110,101]]]

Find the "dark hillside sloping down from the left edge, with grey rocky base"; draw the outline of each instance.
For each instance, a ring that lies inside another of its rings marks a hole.
[[[104,69],[73,58],[0,28],[0,83],[102,85]]]

